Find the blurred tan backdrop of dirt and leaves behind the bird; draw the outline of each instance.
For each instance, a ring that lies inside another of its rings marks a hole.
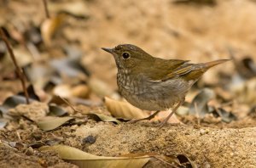
[[[0,25],[41,100],[49,101],[49,95],[92,102],[119,97],[114,60],[101,48],[131,43],[163,59],[232,59],[209,70],[195,91],[211,87],[219,104],[236,101],[236,110],[254,110],[256,1],[45,2],[49,14],[43,0],[0,1]],[[0,60],[3,102],[22,89],[3,41]]]

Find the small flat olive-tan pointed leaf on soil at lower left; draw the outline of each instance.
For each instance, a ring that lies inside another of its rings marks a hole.
[[[51,131],[63,124],[66,124],[69,120],[73,120],[73,117],[45,117],[41,121],[38,121],[37,125],[44,131]]]

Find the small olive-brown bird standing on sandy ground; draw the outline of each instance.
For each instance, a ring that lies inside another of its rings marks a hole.
[[[160,111],[172,108],[172,112],[160,122],[160,127],[166,125],[184,103],[189,89],[207,70],[230,60],[192,64],[189,60],[160,59],[132,44],[102,49],[113,55],[120,94],[139,109],[155,111],[146,118],[131,120],[131,123],[151,120]]]

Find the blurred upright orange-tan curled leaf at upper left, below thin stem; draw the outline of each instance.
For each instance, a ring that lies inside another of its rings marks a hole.
[[[51,38],[55,34],[55,31],[60,27],[65,18],[65,14],[58,14],[55,17],[44,20],[41,25],[41,33],[44,44],[50,46]]]

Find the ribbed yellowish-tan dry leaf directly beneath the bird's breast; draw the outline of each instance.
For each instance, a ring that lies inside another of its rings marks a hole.
[[[148,116],[142,109],[137,109],[127,102],[113,100],[112,98],[105,97],[105,105],[111,115],[117,118],[142,119]]]

